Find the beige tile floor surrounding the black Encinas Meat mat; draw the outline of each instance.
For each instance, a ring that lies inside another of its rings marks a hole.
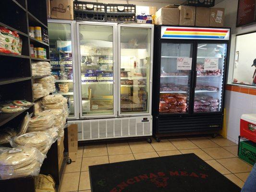
[[[252,166],[237,158],[237,144],[224,138],[189,137],[79,147],[78,158],[67,165],[60,192],[91,192],[88,166],[158,156],[195,153],[234,183],[243,187]]]

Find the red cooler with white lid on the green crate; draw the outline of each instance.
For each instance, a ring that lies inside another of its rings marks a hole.
[[[256,114],[243,114],[241,116],[240,136],[256,143]]]

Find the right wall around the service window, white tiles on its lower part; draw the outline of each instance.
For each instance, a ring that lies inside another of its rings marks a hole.
[[[238,0],[224,0],[215,6],[225,8],[224,26],[232,28],[228,84],[232,83],[236,35],[256,31],[256,24],[236,28],[237,5]],[[256,39],[252,40],[256,41]],[[241,87],[238,86],[226,90],[225,108],[227,137],[238,143],[241,115],[245,113],[256,113],[256,92],[246,94],[244,88],[242,87],[241,91]]]

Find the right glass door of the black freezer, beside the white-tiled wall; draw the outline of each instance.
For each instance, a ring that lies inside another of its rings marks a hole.
[[[227,44],[197,44],[194,112],[221,111]]]

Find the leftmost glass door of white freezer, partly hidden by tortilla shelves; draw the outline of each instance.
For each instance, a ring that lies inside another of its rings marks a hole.
[[[56,92],[68,98],[69,117],[75,116],[73,83],[73,33],[70,23],[49,23],[50,64],[55,77]]]

